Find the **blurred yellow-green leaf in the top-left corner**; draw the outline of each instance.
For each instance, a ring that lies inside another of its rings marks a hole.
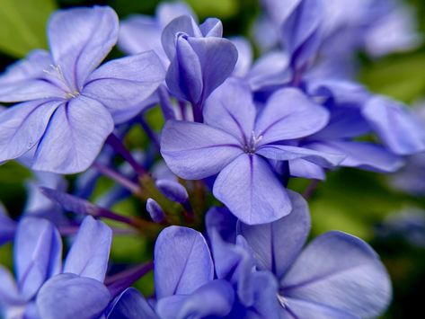
[[[16,58],[47,48],[46,22],[54,0],[0,0],[0,50]]]

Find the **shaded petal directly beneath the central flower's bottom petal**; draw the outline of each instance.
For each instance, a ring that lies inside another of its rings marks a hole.
[[[278,279],[297,258],[310,232],[308,206],[301,195],[288,191],[292,202],[291,213],[264,225],[238,224],[238,234],[251,246],[259,270],[269,270]]]

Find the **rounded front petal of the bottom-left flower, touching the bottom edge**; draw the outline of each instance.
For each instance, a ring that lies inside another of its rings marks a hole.
[[[63,273],[40,289],[37,307],[43,319],[95,319],[102,315],[110,298],[101,282]]]

